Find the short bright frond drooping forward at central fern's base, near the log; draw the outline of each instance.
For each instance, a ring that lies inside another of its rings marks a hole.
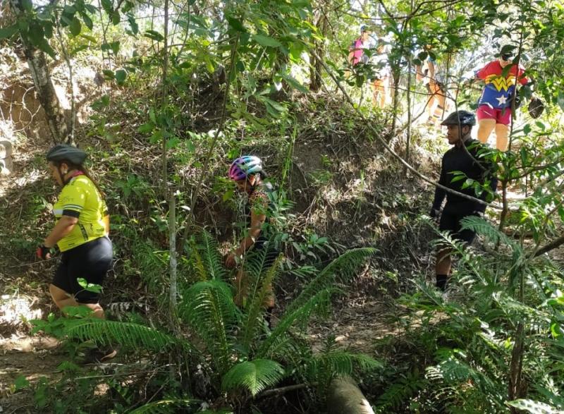
[[[273,360],[258,359],[238,363],[223,376],[221,386],[229,391],[234,388],[245,388],[252,396],[263,389],[273,386],[284,376],[282,365]]]

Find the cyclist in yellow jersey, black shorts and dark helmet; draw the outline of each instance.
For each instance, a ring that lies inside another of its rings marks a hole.
[[[71,145],[56,145],[47,152],[51,175],[63,189],[54,205],[56,224],[37,248],[37,256],[48,259],[55,245],[62,252],[61,264],[49,286],[59,309],[85,305],[95,317],[103,318],[99,293],[87,291],[77,280],[101,285],[113,257],[108,209],[101,191],[82,166],[86,157],[84,151]],[[116,354],[114,350],[107,351],[97,359]]]

